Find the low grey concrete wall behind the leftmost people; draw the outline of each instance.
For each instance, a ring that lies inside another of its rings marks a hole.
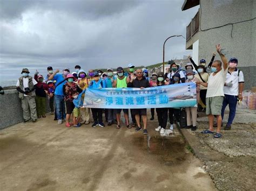
[[[21,105],[16,89],[4,90],[4,95],[0,95],[0,129],[23,121]],[[46,100],[46,112],[50,112],[48,99]]]

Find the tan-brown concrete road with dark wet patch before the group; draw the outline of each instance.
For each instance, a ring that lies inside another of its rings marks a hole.
[[[178,131],[156,126],[66,128],[48,115],[1,130],[0,190],[214,190]]]

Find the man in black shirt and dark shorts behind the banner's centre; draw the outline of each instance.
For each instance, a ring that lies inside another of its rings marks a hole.
[[[136,76],[137,75],[137,76]],[[148,88],[150,87],[149,81],[146,80],[146,78],[143,76],[142,69],[137,69],[136,70],[136,75],[131,74],[131,80],[127,84],[127,87],[129,88]],[[142,130],[142,127],[140,126],[140,115],[142,116],[142,121],[143,121],[143,134],[147,135],[147,109],[132,109],[132,114],[135,115],[136,122],[138,127],[135,129],[135,131],[140,131]]]

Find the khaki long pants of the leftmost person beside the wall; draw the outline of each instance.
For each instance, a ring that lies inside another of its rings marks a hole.
[[[37,119],[35,97],[24,96],[22,99],[23,118],[25,120]]]

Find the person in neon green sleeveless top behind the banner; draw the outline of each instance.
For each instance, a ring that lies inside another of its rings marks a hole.
[[[122,67],[117,68],[117,79],[114,80],[114,87],[116,88],[127,88],[127,77],[124,75],[124,69]],[[116,109],[117,116],[117,129],[120,129],[120,120],[121,120],[121,111],[122,109]],[[129,124],[129,109],[123,109],[124,118],[127,128],[131,129]]]

